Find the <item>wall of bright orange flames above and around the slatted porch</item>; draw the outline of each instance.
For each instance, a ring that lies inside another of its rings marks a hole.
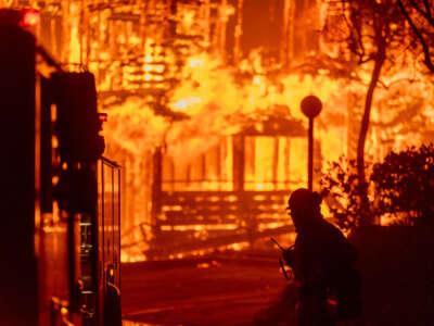
[[[71,68],[97,75],[100,108],[108,113],[106,154],[124,166],[125,243],[150,237],[155,147],[177,164],[189,164],[279,108],[305,122],[299,103],[314,93],[323,102],[316,120],[323,162],[355,153],[370,67],[354,66],[359,78],[348,82],[315,65],[336,51],[318,33],[326,15],[321,1],[29,3],[41,10],[42,45]],[[367,147],[371,160],[433,137],[432,83],[412,67],[390,76],[375,95]],[[267,170],[271,152],[266,140],[256,142],[257,172],[247,178],[260,184],[260,165]],[[291,151],[291,178],[303,184],[305,139],[285,150]],[[288,173],[279,164],[279,173]]]

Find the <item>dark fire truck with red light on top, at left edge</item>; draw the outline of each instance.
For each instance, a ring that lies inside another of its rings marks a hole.
[[[102,156],[93,75],[0,9],[1,325],[120,325],[120,167]]]

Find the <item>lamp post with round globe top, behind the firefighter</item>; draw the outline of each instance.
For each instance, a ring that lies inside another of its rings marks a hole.
[[[312,177],[314,177],[314,117],[316,117],[322,109],[322,103],[320,99],[316,96],[307,96],[302,100],[302,112],[309,118],[309,158],[307,161],[307,185],[308,189],[312,190]]]

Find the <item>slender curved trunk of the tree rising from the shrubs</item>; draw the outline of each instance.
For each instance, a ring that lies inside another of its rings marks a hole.
[[[369,83],[368,92],[365,100],[363,117],[361,120],[359,141],[357,146],[357,175],[358,185],[360,187],[360,209],[361,209],[361,224],[372,224],[372,216],[368,200],[368,185],[366,183],[365,174],[365,145],[369,130],[369,122],[372,108],[373,92],[380,78],[381,68],[385,61],[385,47],[379,46],[379,52],[375,55],[374,67],[371,75],[371,82]]]

